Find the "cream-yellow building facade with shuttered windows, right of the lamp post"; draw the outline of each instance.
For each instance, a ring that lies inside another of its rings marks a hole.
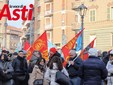
[[[113,0],[85,0],[84,46],[96,37],[95,47],[102,51],[113,49]]]

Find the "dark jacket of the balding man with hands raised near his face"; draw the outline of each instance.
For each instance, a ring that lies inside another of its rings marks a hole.
[[[78,77],[79,67],[82,64],[82,59],[80,57],[70,58],[69,60],[74,61],[74,65],[66,65],[66,69],[69,73],[70,78]]]

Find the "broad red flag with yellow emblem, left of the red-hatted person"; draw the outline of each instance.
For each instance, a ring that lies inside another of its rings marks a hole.
[[[48,60],[48,44],[46,31],[33,43],[28,51],[27,60],[31,59],[31,55],[34,50],[38,50],[42,53],[42,57]],[[31,53],[31,55],[30,55]]]

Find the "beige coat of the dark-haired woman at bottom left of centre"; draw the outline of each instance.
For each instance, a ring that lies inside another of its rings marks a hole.
[[[36,79],[44,79],[44,73],[41,72],[37,65],[34,66],[32,73],[30,74],[29,85],[33,85]],[[43,85],[49,85],[49,82],[44,79]]]

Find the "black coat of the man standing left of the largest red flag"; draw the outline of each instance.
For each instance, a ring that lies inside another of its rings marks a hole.
[[[17,57],[13,60],[12,66],[14,68],[14,79],[18,76],[28,75],[27,60],[25,58]]]

